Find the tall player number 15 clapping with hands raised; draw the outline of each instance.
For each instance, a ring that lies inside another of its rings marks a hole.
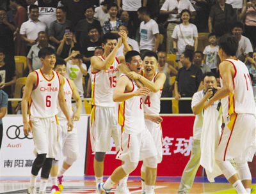
[[[103,56],[93,56],[91,59],[92,104],[94,107],[91,113],[90,140],[92,150],[95,152],[93,168],[97,184],[102,183],[103,180],[104,157],[106,152],[110,151],[111,136],[115,140],[116,148],[119,147],[115,103],[112,96],[116,87],[116,80],[120,75],[117,66],[119,63],[125,63],[125,60],[122,56],[115,56],[122,43],[127,50],[131,50],[131,48],[127,44],[125,31],[120,31],[118,35],[121,38],[117,41],[115,34],[104,34]]]

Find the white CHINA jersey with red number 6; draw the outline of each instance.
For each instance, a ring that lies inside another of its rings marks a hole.
[[[60,91],[60,77],[52,71],[52,78],[44,77],[41,69],[36,70],[37,83],[31,92],[30,118],[46,118],[58,114],[57,101]]]

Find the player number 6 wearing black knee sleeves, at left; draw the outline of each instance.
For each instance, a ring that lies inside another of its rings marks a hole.
[[[56,62],[55,52],[50,47],[42,48],[38,57],[43,64],[42,69],[29,73],[22,98],[23,131],[25,135],[33,133],[36,159],[31,170],[28,193],[36,194],[36,176],[40,168],[41,183],[39,193],[45,193],[52,158],[56,157],[58,142],[58,114],[57,100],[67,118],[67,127],[72,131],[67,103],[63,93],[63,77],[52,71]],[[28,121],[28,101],[30,100],[30,121]]]

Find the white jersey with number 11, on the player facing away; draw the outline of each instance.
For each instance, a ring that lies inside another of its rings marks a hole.
[[[255,115],[252,84],[246,65],[238,59],[227,59],[226,61],[233,64],[235,75],[233,78],[234,90],[230,92],[228,96],[221,99],[225,123],[227,122],[228,116],[232,114]],[[223,86],[221,75],[220,79],[221,86]]]

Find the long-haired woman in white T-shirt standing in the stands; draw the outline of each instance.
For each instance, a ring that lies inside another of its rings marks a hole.
[[[176,61],[180,61],[180,55],[185,51],[186,45],[195,47],[195,51],[198,45],[198,33],[197,27],[191,24],[191,13],[189,10],[182,10],[180,13],[180,20],[182,24],[174,27],[172,34],[173,38],[173,50],[177,50]],[[179,68],[181,64],[179,64]]]

